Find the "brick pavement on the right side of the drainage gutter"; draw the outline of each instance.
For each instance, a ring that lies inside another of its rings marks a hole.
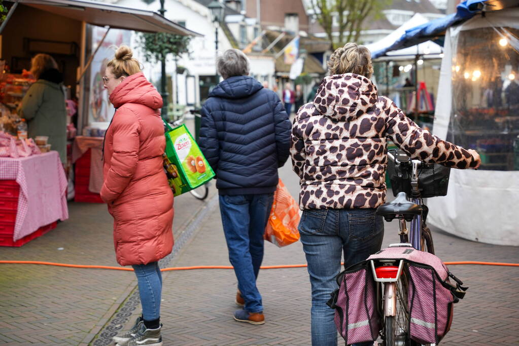
[[[297,179],[287,166],[281,176],[293,195]],[[384,246],[398,242],[398,223],[386,223]],[[516,247],[463,240],[433,230],[436,253],[444,261],[477,260],[519,263]],[[264,265],[305,263],[301,243],[265,247]],[[218,209],[202,224],[170,266],[230,265]],[[519,343],[519,269],[452,266],[468,285],[455,306],[454,323],[441,344],[503,345]],[[266,323],[235,322],[237,281],[232,270],[170,271],[163,277],[162,322],[165,345],[307,345],[310,340],[310,284],[306,268],[262,270],[258,288]],[[138,312],[138,311],[136,311]],[[127,326],[128,327],[128,326]],[[339,344],[340,344],[339,338]]]

